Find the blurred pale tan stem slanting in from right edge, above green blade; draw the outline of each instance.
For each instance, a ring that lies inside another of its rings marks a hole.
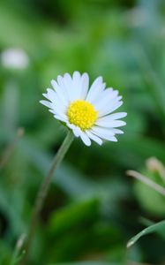
[[[126,173],[128,176],[139,179],[139,181],[145,183],[147,186],[150,186],[151,188],[153,188],[156,192],[165,196],[165,188],[158,185],[153,180],[146,178],[145,176],[141,175],[139,172],[134,171],[134,170],[128,170]]]

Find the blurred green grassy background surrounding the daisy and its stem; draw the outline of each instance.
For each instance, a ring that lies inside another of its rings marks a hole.
[[[22,49],[26,65],[4,64],[6,49]],[[126,249],[146,219],[164,218],[165,199],[125,174],[139,170],[159,182],[146,159],[165,163],[165,2],[1,0],[0,56],[0,264],[11,264],[65,136],[41,94],[50,79],[75,70],[120,91],[127,125],[117,143],[86,148],[74,140],[42,209],[29,264],[165,264],[162,234]],[[25,134],[14,140],[19,127]]]

